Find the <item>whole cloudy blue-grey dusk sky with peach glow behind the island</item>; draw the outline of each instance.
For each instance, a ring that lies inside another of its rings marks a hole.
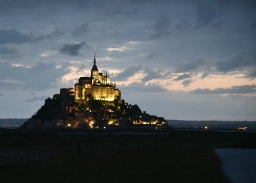
[[[256,0],[0,0],[0,118],[108,73],[165,119],[256,120]]]

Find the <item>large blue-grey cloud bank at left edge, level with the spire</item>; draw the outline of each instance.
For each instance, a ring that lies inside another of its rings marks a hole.
[[[12,66],[9,62],[0,62],[0,88],[9,90],[26,89],[47,90],[56,86],[56,81],[66,71],[56,68],[55,63],[38,62],[31,68]]]

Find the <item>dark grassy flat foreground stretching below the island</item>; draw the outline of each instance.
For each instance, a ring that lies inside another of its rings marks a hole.
[[[222,183],[222,147],[255,148],[256,133],[0,129],[0,182]]]

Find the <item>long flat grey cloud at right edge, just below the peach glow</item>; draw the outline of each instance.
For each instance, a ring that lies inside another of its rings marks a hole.
[[[231,88],[218,88],[218,89],[196,89],[190,91],[191,93],[196,94],[248,94],[248,93],[256,93],[256,85],[242,85],[242,86],[234,86]]]

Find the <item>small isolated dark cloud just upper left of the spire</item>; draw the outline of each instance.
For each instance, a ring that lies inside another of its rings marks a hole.
[[[78,55],[78,51],[83,47],[86,46],[86,42],[82,41],[81,43],[66,43],[62,46],[60,49],[60,52],[63,54],[67,54],[70,56],[76,56]]]

